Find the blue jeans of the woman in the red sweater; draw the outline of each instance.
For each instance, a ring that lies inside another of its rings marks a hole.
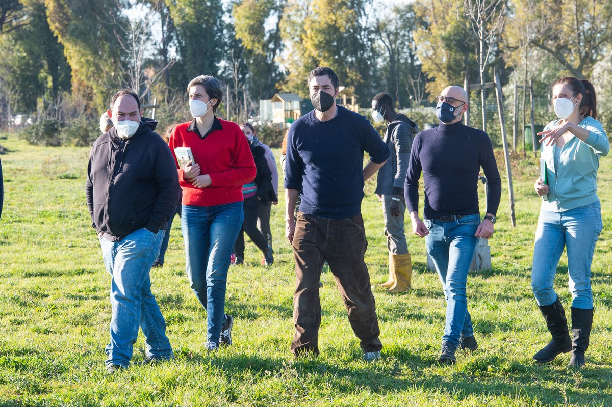
[[[218,344],[221,336],[230,256],[243,219],[242,201],[211,207],[182,207],[187,276],[207,311],[208,342]]]

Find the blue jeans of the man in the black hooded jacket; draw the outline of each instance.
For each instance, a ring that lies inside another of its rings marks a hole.
[[[111,342],[105,351],[106,365],[127,367],[132,359],[138,326],[146,340],[147,356],[173,357],[166,337],[166,321],[151,293],[151,265],[157,258],[164,230],[157,233],[138,229],[119,241],[100,239],[102,258],[111,275],[110,300],[113,308]]]

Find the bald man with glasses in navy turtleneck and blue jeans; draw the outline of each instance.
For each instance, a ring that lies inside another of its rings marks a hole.
[[[446,296],[446,326],[438,362],[457,362],[455,351],[476,350],[466,299],[469,265],[479,238],[493,235],[501,178],[487,133],[461,123],[468,95],[449,86],[438,96],[438,127],[417,134],[406,175],[406,205],[412,231],[425,237]],[[487,176],[487,215],[480,222],[478,176]],[[419,178],[425,183],[425,222],[419,218]]]

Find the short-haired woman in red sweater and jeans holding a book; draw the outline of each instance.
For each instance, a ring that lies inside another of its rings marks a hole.
[[[225,287],[230,255],[244,212],[242,185],[255,178],[248,142],[236,123],[215,116],[223,92],[219,81],[200,75],[187,86],[194,119],[170,136],[170,148],[183,192],[181,227],[187,276],[207,310],[208,351],[231,345],[233,318],[225,314]],[[181,168],[176,147],[189,147],[193,163]]]

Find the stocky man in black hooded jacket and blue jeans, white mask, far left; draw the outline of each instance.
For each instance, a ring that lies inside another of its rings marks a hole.
[[[106,370],[114,373],[129,365],[139,325],[147,348],[141,364],[173,358],[149,271],[176,211],[179,180],[168,145],[153,131],[157,122],[142,117],[138,95],[119,90],[110,107],[113,128],[92,147],[86,197],[111,274],[113,316],[105,351]]]

